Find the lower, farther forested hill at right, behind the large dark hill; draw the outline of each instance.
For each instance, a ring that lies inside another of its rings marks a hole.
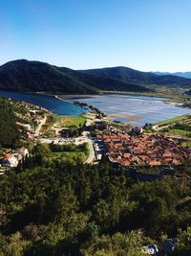
[[[85,74],[96,75],[101,78],[110,78],[116,81],[136,83],[141,85],[164,85],[164,86],[181,86],[190,87],[191,79],[180,78],[178,76],[163,75],[158,76],[151,72],[141,72],[128,67],[110,67],[81,70]]]

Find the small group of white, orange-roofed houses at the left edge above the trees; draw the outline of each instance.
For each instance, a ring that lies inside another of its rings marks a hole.
[[[6,169],[10,170],[11,168],[17,167],[19,161],[27,156],[29,156],[29,151],[25,147],[16,149],[15,151],[7,151],[0,158],[0,170],[2,170],[1,173],[3,174]]]

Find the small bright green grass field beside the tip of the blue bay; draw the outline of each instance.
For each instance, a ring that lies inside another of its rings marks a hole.
[[[83,125],[86,123],[86,118],[83,116],[67,116],[63,117],[60,126],[61,127],[83,127]]]

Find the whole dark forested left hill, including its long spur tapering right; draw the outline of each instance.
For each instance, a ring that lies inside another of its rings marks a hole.
[[[19,59],[0,66],[0,89],[54,93],[97,94],[98,90],[144,92],[135,83],[83,74],[40,61]]]

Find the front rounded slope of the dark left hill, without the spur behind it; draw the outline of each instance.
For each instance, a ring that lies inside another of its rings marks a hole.
[[[0,89],[97,93],[96,88],[63,74],[48,63],[26,59],[14,60],[0,67]]]

